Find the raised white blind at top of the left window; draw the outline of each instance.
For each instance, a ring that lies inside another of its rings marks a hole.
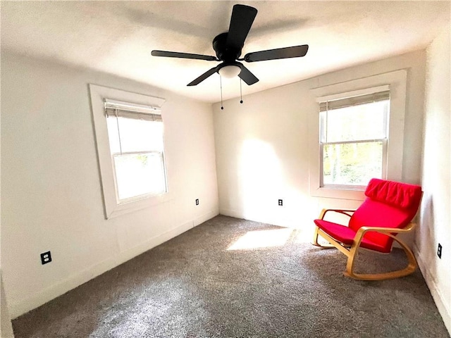
[[[107,117],[135,118],[150,121],[162,121],[161,108],[131,104],[129,102],[104,99],[105,114]]]

